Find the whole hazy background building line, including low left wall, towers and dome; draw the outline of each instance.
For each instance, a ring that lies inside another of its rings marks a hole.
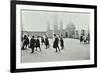
[[[62,35],[63,38],[76,38],[79,39],[80,35],[86,35],[89,34],[89,30],[76,30],[76,27],[74,23],[66,24],[65,29],[63,28],[63,21],[61,19],[58,19],[58,15],[54,14],[53,17],[53,29],[50,28],[49,21],[47,24],[47,30],[46,31],[23,31],[22,34],[27,35],[34,35],[37,36],[44,36],[47,35],[49,38],[53,38],[53,34]],[[65,23],[64,23],[65,24]],[[59,26],[59,28],[58,28]]]

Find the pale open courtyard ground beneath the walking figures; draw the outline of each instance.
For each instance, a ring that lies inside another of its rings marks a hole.
[[[45,49],[44,45],[41,45],[41,52],[35,51],[31,54],[31,49],[21,51],[21,62],[51,62],[51,61],[68,61],[68,60],[89,60],[90,59],[90,45],[80,44],[78,39],[64,39],[64,49],[60,52],[55,52],[52,47],[53,41],[49,39],[50,47]]]

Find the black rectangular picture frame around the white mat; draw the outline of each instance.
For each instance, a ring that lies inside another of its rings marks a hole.
[[[41,68],[24,68],[16,69],[16,5],[37,5],[37,6],[53,6],[53,7],[71,7],[94,9],[94,64],[89,65],[73,65],[73,66],[55,66]],[[11,1],[11,19],[10,19],[10,71],[11,72],[29,72],[29,71],[45,71],[45,70],[62,70],[62,69],[78,69],[97,67],[97,6],[81,5],[81,4],[64,4],[64,3],[48,3],[34,1]]]

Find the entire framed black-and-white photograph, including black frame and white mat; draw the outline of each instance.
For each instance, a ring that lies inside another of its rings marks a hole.
[[[96,67],[96,6],[24,1],[12,6],[16,71]]]

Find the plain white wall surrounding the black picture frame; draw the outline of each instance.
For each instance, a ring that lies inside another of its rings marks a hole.
[[[34,0],[35,1],[35,0]],[[98,67],[34,73],[99,73],[100,72],[100,1],[99,0],[36,0],[58,3],[98,5]],[[10,73],[10,0],[0,0],[0,73]],[[30,72],[27,72],[30,73]]]

